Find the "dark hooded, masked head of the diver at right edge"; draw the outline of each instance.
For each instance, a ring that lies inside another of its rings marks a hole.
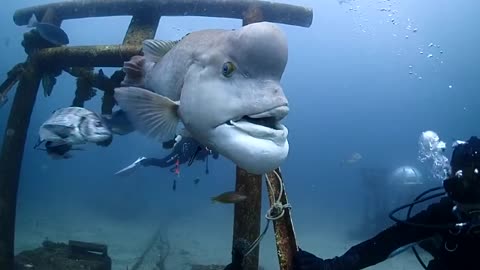
[[[452,176],[443,181],[447,195],[459,204],[480,205],[480,139],[457,145],[450,166]]]

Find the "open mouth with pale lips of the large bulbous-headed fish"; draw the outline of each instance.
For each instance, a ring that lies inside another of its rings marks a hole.
[[[278,106],[262,113],[244,115],[225,122],[227,126],[234,127],[248,135],[272,140],[278,144],[285,142],[288,129],[280,123],[280,120],[288,114],[286,105]]]

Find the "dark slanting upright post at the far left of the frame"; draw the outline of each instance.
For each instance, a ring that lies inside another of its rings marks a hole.
[[[27,60],[8,117],[0,152],[0,269],[14,269],[15,216],[18,182],[27,131],[41,73]]]

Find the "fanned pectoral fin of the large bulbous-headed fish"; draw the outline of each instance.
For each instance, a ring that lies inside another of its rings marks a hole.
[[[159,141],[175,135],[179,102],[138,87],[115,89],[115,100],[135,129]]]

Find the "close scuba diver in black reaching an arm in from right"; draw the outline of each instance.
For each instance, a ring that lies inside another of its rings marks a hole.
[[[357,270],[380,263],[394,251],[410,247],[422,240],[436,237],[440,245],[423,246],[433,259],[427,270],[478,270],[480,269],[480,139],[471,137],[455,146],[450,161],[451,171],[443,181],[443,187],[430,189],[420,194],[408,205],[390,213],[397,223],[375,237],[351,247],[342,256],[321,259],[301,250],[294,256],[294,270]],[[443,190],[444,189],[444,190]],[[429,192],[440,193],[425,197]],[[447,196],[444,196],[444,195]],[[426,210],[410,217],[415,204],[442,197]],[[409,208],[407,219],[400,220],[394,214]]]

